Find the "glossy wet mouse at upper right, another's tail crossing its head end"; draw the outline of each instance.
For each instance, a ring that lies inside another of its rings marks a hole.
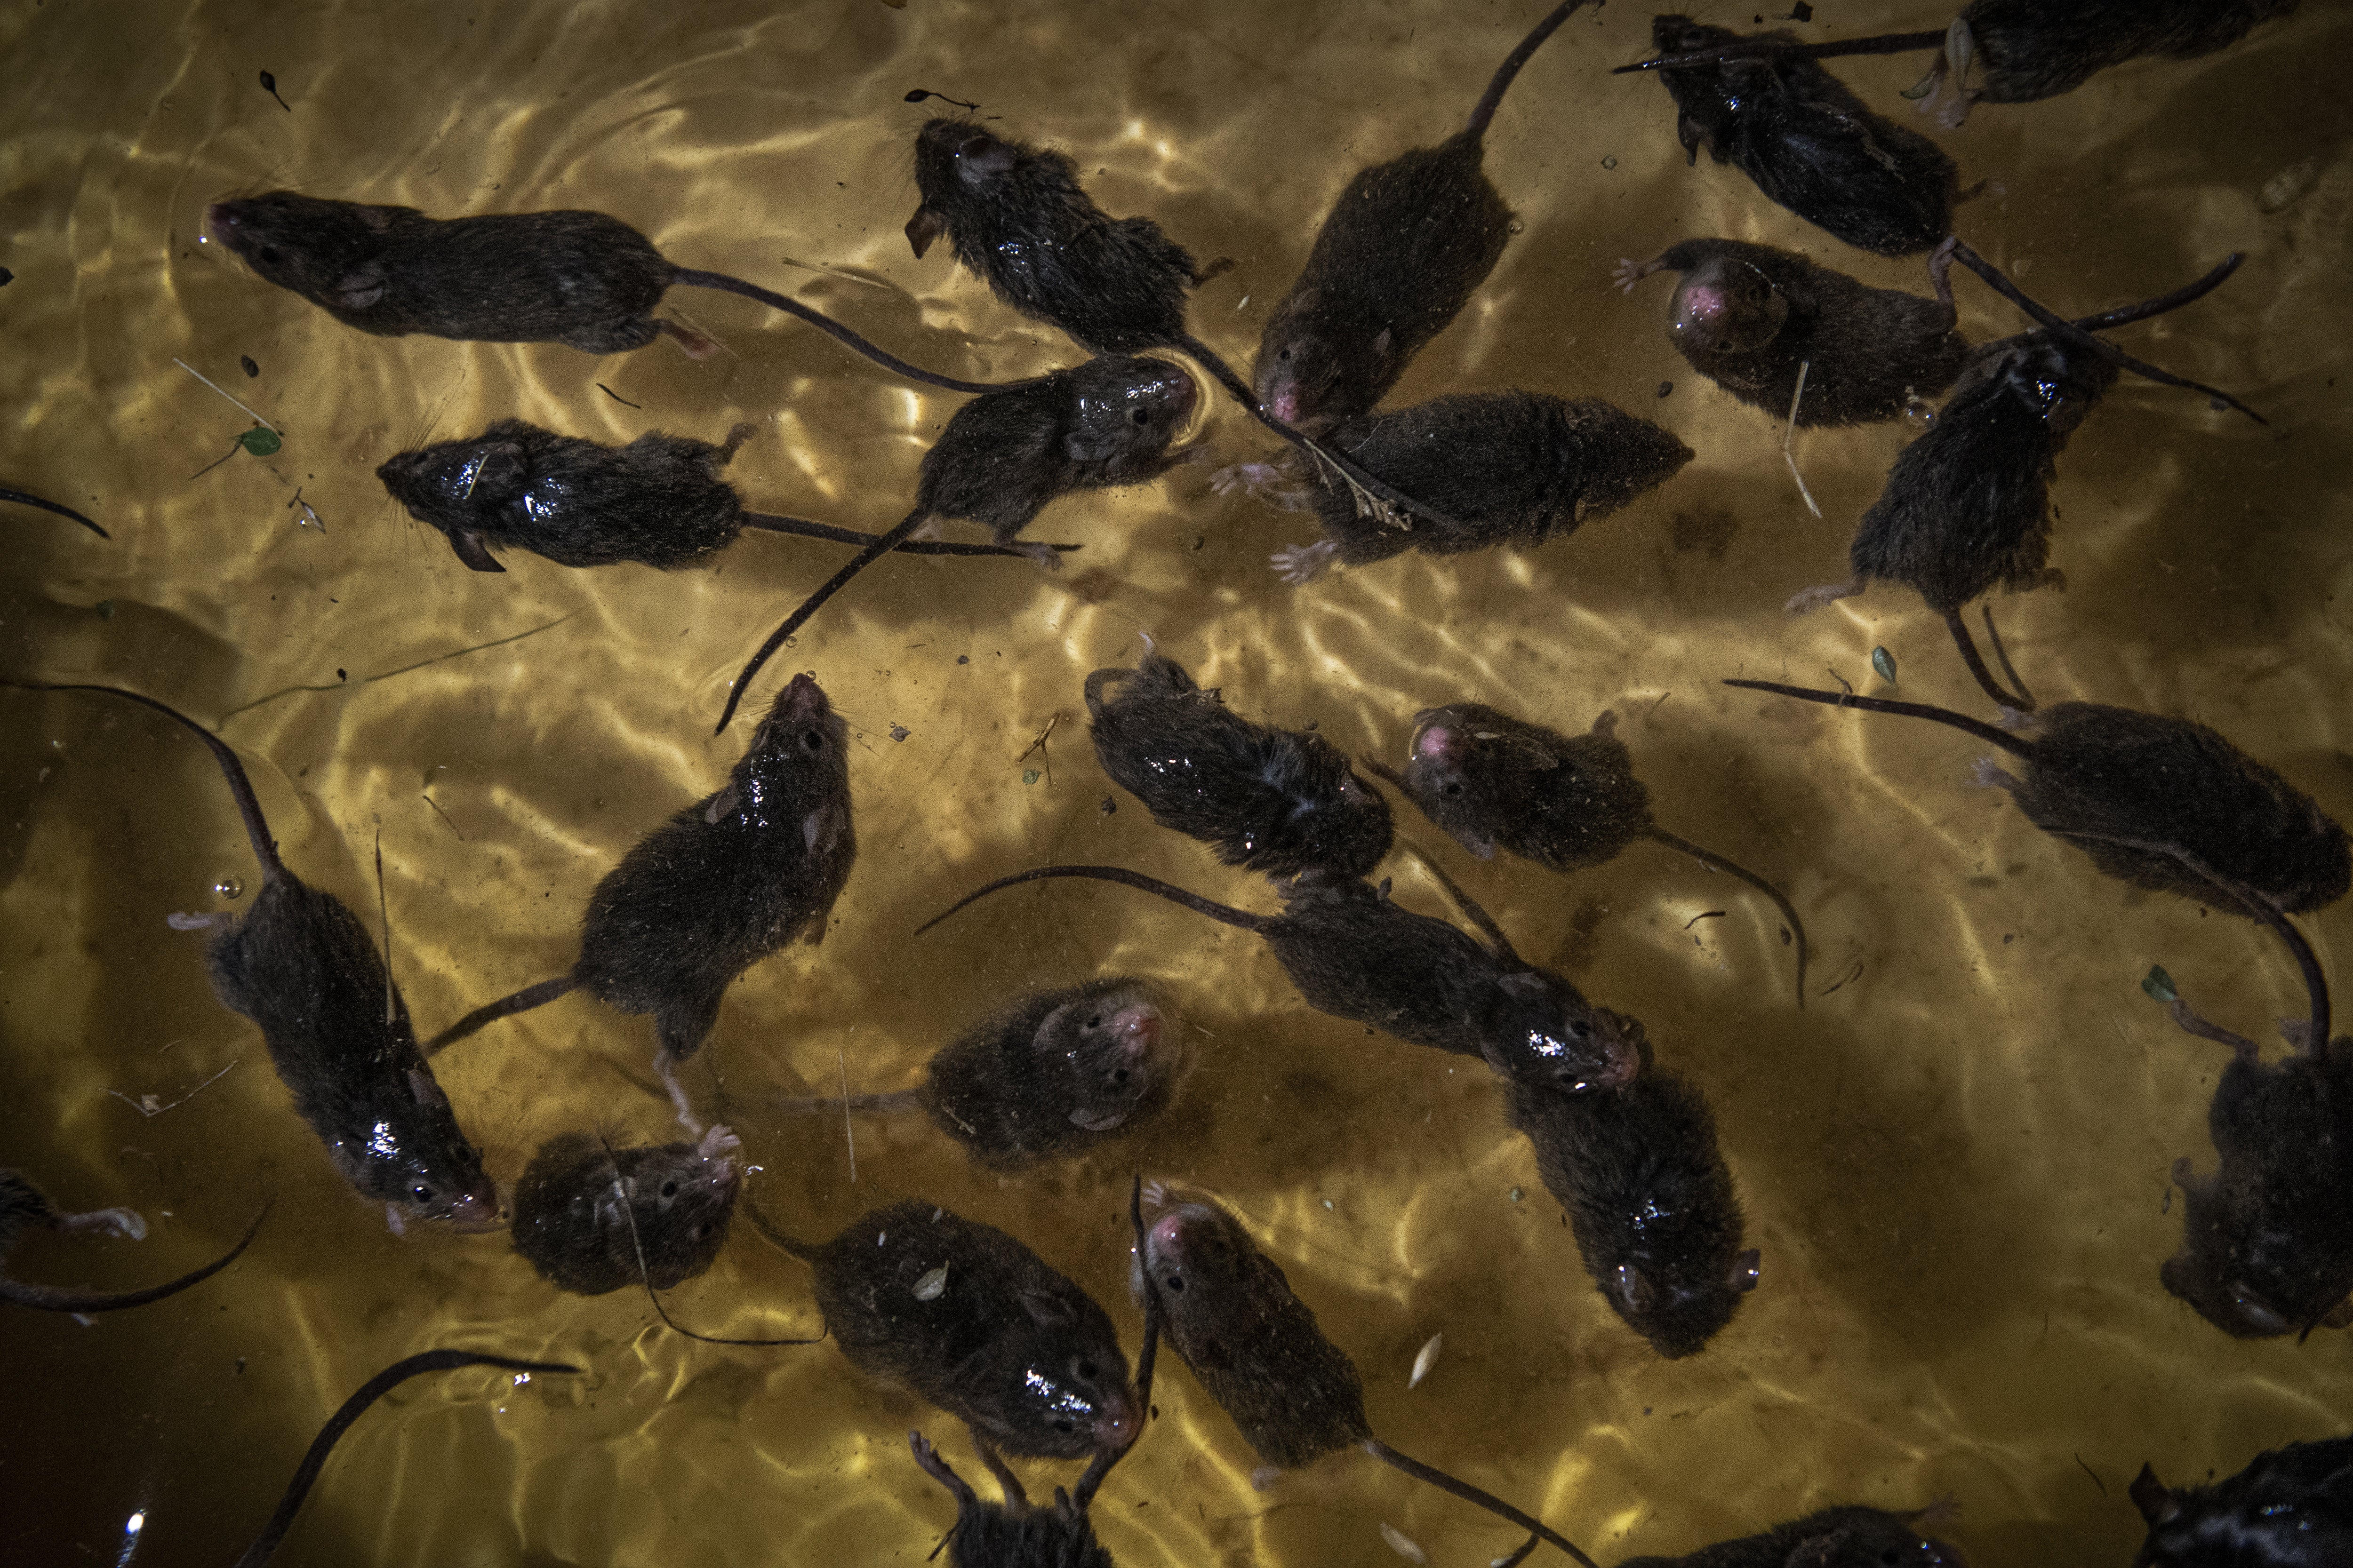
[[[1706,61],[1657,71],[1675,99],[1685,162],[1699,162],[1706,146],[1718,165],[1755,181],[1765,200],[1880,256],[1913,256],[1953,233],[1960,176],[1944,148],[1871,113],[1809,59],[1718,56],[1751,38],[1795,45],[1793,33],[1744,38],[1671,14],[1657,16],[1649,35],[1661,56]]]

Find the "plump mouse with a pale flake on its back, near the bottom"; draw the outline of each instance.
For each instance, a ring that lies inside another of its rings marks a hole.
[[[1111,1316],[1002,1229],[901,1199],[812,1246],[748,1213],[816,1272],[816,1307],[849,1363],[965,1420],[974,1441],[1085,1460],[1141,1432]]]

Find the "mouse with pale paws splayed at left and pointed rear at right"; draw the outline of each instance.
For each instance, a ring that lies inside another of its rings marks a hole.
[[[1332,562],[1365,567],[1407,550],[1532,550],[1588,517],[1607,517],[1692,461],[1689,447],[1647,418],[1598,397],[1546,393],[1457,393],[1351,418],[1325,440],[1452,522],[1395,527],[1360,515],[1327,487],[1313,496],[1325,536],[1273,557],[1285,583],[1311,583]]]

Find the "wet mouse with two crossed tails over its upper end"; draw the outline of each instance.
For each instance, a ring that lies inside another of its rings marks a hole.
[[[2033,696],[2026,689],[2005,691],[1986,670],[1960,607],[1995,588],[2028,590],[2052,581],[2047,562],[2054,458],[2101,393],[2115,383],[2118,369],[2191,386],[2261,423],[2259,414],[2226,393],[2158,371],[2094,336],[2099,329],[2139,322],[2205,296],[2238,270],[2245,256],[2231,256],[2198,282],[2160,299],[2066,322],[2019,294],[1967,244],[1955,240],[1951,254],[2045,324],[1986,343],[1969,355],[1937,423],[1897,454],[1887,487],[1857,524],[1854,543],[1847,548],[1854,578],[1807,588],[1788,602],[1788,611],[1802,614],[1845,599],[1873,578],[1904,583],[1944,616],[1969,675],[1986,696],[2005,708],[2031,710]]]

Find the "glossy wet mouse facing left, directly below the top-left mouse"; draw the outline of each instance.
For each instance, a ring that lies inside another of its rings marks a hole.
[[[492,550],[529,550],[558,567],[638,562],[692,567],[725,550],[744,529],[871,545],[873,534],[802,517],[746,512],[718,470],[753,435],[736,425],[713,447],[647,430],[628,447],[600,447],[501,418],[461,442],[402,451],[376,468],[409,517],[440,529],[475,571],[506,571]],[[1033,555],[1035,548],[958,545],[908,538],[906,555]],[[1075,550],[1078,545],[1052,545]]]

